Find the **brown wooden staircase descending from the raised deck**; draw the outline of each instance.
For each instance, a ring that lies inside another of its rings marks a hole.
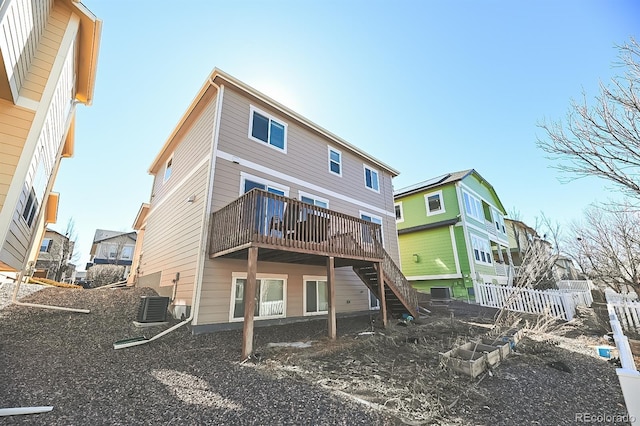
[[[411,284],[407,281],[393,259],[391,259],[391,256],[389,256],[386,251],[383,251],[383,253],[382,275],[384,277],[384,293],[388,312],[394,317],[409,314],[417,318],[417,291],[411,287]],[[380,287],[378,285],[378,271],[375,268],[375,264],[354,266],[353,270],[369,290],[376,295],[378,300],[381,300]]]

